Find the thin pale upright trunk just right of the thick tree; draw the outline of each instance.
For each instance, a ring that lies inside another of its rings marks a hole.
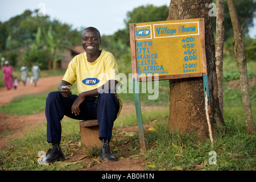
[[[224,0],[216,0],[216,73],[218,78],[218,100],[223,114],[223,44],[224,44]]]

